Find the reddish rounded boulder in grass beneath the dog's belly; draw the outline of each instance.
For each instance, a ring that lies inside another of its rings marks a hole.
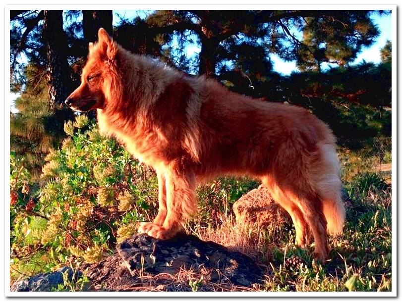
[[[287,211],[276,203],[266,188],[251,190],[233,203],[236,222],[258,224],[260,226],[291,223]]]

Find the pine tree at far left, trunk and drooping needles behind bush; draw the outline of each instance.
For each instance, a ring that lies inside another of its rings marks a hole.
[[[73,117],[73,112],[63,106],[75,86],[68,63],[70,48],[61,10],[12,15],[15,41],[11,43],[14,57],[10,64],[17,76],[11,88],[14,91],[22,88],[22,92],[15,100],[18,112],[10,113],[10,147],[25,159],[25,166],[38,180],[45,155],[58,147],[65,136],[64,121]],[[24,43],[17,42],[19,35]],[[17,64],[18,53],[24,53],[28,62]]]

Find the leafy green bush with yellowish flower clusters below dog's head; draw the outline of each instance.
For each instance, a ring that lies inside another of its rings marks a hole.
[[[11,265],[20,273],[100,260],[157,204],[153,171],[102,137],[85,115],[64,130],[61,148],[46,156],[40,187],[30,187],[11,153]]]

